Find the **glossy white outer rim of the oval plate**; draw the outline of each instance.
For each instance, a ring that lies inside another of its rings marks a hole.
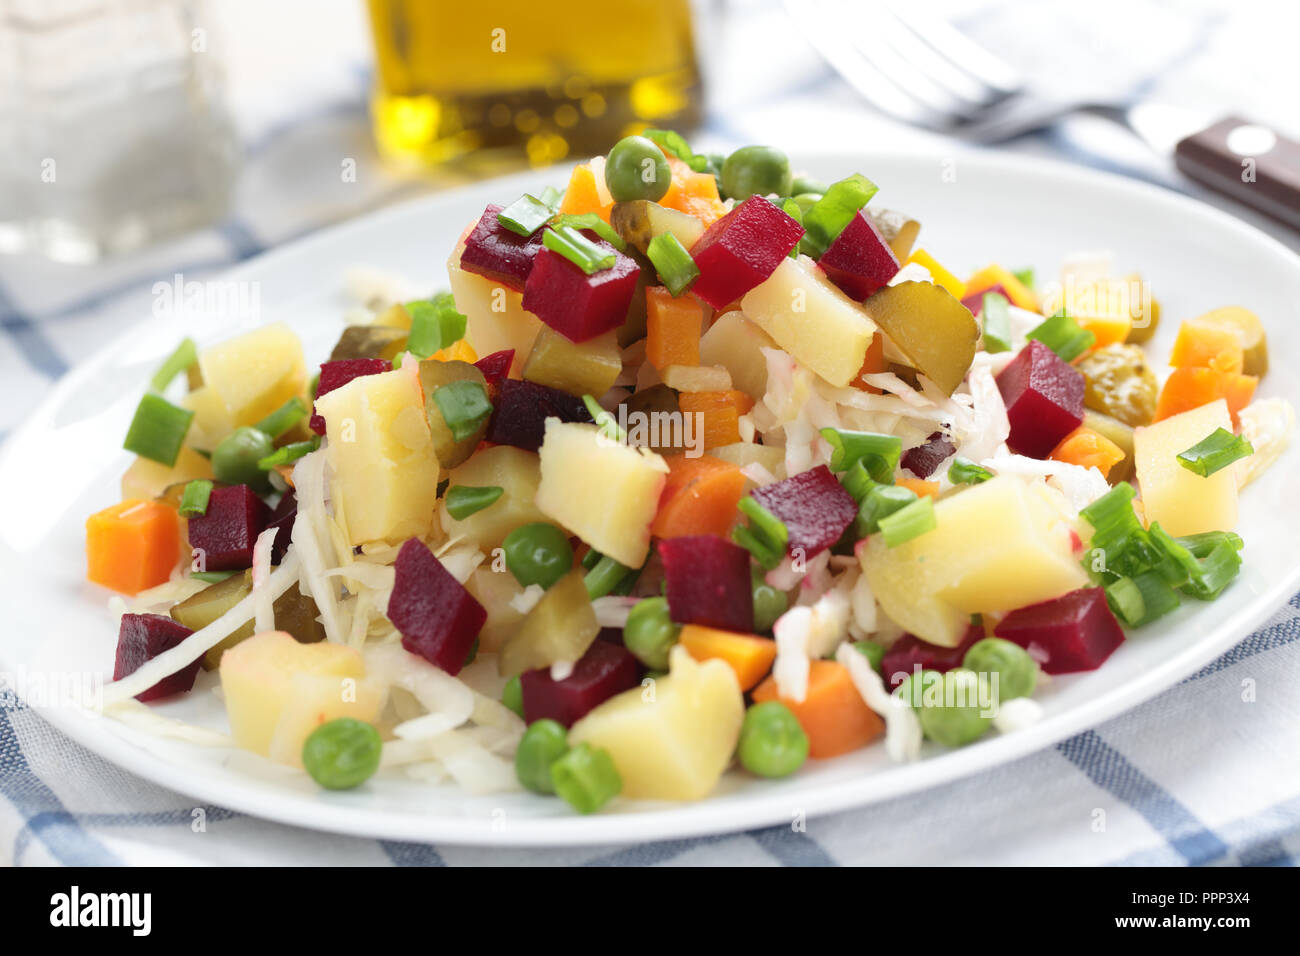
[[[982,166],[996,173],[1024,172],[1037,177],[1052,177],[1072,181],[1080,186],[1089,182],[1119,194],[1139,195],[1144,200],[1158,202],[1166,208],[1180,213],[1200,216],[1208,225],[1219,226],[1248,238],[1256,248],[1268,250],[1284,264],[1300,273],[1300,255],[1287,248],[1280,241],[1264,233],[1249,222],[1239,220],[1223,209],[1209,206],[1193,196],[1180,194],[1167,186],[1138,181],[1118,176],[1109,170],[1074,165],[1058,159],[997,153],[978,148],[959,150],[823,150],[797,156],[801,161],[822,164],[853,161],[870,164],[872,159],[890,163],[952,161]],[[525,170],[494,179],[471,183],[469,189],[507,189],[512,182],[532,182],[549,172],[563,166]],[[465,187],[442,190],[429,195],[398,202],[363,216],[330,224],[307,235],[276,246],[257,256],[211,276],[211,281],[240,281],[247,273],[277,268],[282,259],[309,254],[317,245],[328,245],[341,233],[361,225],[382,225],[391,219],[404,219],[419,215],[420,207],[436,207]],[[104,347],[103,355],[113,355],[124,350],[151,328],[146,319],[122,329]],[[90,375],[92,363],[78,363],[70,369],[46,399],[5,441],[0,450],[0,470],[3,470],[20,444],[16,440],[42,424],[43,412],[55,407],[70,390],[75,389],[83,377]],[[1097,697],[1072,709],[1054,715],[1050,721],[1015,734],[1000,735],[982,741],[979,747],[950,750],[926,757],[893,773],[867,774],[859,779],[829,782],[789,800],[757,800],[742,805],[710,804],[708,799],[690,804],[666,804],[660,808],[614,813],[592,817],[528,817],[515,818],[502,829],[488,817],[476,816],[416,816],[394,813],[385,809],[350,806],[330,803],[321,795],[306,796],[294,791],[283,791],[276,799],[268,800],[257,787],[250,787],[237,778],[224,779],[220,775],[204,773],[191,778],[188,769],[174,767],[157,754],[150,753],[140,744],[129,740],[122,734],[95,728],[95,721],[79,715],[78,711],[57,706],[32,706],[22,702],[56,730],[68,735],[79,745],[100,758],[136,774],[151,783],[168,787],[185,796],[211,801],[248,816],[269,819],[289,826],[337,832],[341,835],[395,839],[407,842],[429,842],[446,845],[481,847],[578,847],[578,845],[618,845],[629,842],[694,838],[706,834],[732,834],[763,826],[789,822],[790,806],[797,801],[798,809],[809,818],[867,806],[883,800],[914,793],[944,783],[954,783],[983,770],[992,770],[1013,760],[1046,749],[1080,731],[1096,727],[1114,717],[1138,708],[1162,691],[1174,687],[1196,670],[1236,646],[1253,633],[1273,614],[1287,605],[1300,589],[1300,559],[1271,587],[1256,593],[1242,607],[1231,624],[1225,624],[1212,639],[1201,640],[1179,653],[1166,658],[1158,666],[1110,688]],[[5,663],[5,644],[0,641],[0,667]],[[21,688],[14,688],[18,691]],[[196,780],[196,782],[195,782]],[[755,782],[754,786],[762,786]],[[634,832],[629,832],[634,831]]]

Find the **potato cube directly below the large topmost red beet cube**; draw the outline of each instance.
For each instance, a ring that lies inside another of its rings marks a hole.
[[[740,307],[801,364],[837,386],[848,385],[862,369],[876,333],[862,307],[807,256],[781,260],[771,276],[745,293]],[[971,343],[974,347],[974,339]]]

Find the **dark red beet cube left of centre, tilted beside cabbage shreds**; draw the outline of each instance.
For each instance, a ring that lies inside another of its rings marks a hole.
[[[402,633],[402,646],[459,674],[488,611],[419,538],[402,545],[394,567],[389,620]]]

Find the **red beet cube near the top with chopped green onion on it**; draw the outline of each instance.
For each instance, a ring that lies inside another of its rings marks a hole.
[[[543,248],[524,286],[524,308],[572,342],[585,342],[616,329],[628,317],[641,267],[590,230],[582,234],[615,256],[614,265],[588,276]]]

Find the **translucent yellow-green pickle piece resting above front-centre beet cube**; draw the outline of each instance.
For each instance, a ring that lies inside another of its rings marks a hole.
[[[502,646],[497,658],[500,675],[512,678],[559,661],[576,663],[599,631],[582,568],[577,567],[550,587]]]

